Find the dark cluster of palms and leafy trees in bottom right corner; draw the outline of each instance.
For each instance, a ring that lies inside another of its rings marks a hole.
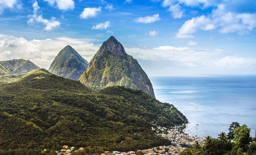
[[[229,133],[219,134],[218,138],[207,136],[201,146],[198,142],[192,148],[186,148],[180,155],[256,155],[256,139],[250,137],[250,129],[233,122]]]

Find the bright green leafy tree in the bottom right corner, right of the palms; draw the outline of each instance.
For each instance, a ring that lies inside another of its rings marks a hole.
[[[245,150],[251,141],[250,129],[247,127],[247,125],[244,124],[240,127],[237,127],[233,134],[234,139],[236,139],[236,147]]]

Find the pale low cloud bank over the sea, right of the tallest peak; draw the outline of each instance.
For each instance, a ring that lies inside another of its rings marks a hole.
[[[220,49],[161,46],[125,50],[140,62],[146,73],[153,75],[256,73],[255,58],[230,55]]]

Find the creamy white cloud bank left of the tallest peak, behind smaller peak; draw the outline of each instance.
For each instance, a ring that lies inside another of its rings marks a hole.
[[[72,46],[88,61],[99,48],[99,45],[92,43],[92,39],[58,37],[27,40],[23,37],[0,34],[0,58],[1,60],[29,59],[39,67],[48,69],[58,52],[67,45]]]

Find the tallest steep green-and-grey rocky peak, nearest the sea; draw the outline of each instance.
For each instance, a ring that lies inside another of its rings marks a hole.
[[[126,54],[113,36],[103,42],[79,81],[95,90],[117,85],[143,90],[155,98],[152,83],[138,61]]]

